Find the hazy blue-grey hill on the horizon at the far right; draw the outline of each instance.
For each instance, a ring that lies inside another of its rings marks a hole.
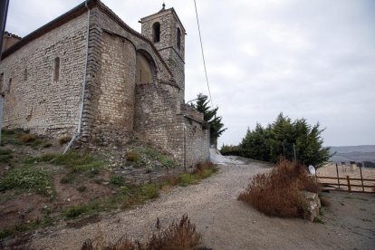
[[[331,153],[334,152],[336,154],[330,159],[332,162],[370,161],[375,164],[375,145],[331,147]]]

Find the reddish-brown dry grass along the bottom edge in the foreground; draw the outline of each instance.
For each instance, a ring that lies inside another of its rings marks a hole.
[[[152,234],[148,241],[140,244],[139,241],[132,242],[127,237],[121,237],[114,244],[106,244],[101,242],[93,242],[87,239],[82,250],[157,250],[157,249],[198,249],[202,241],[202,236],[197,233],[196,226],[190,223],[187,215],[182,216],[179,222],[172,222],[167,228],[162,229],[159,219],[156,224],[156,232]],[[205,248],[200,248],[205,249]]]

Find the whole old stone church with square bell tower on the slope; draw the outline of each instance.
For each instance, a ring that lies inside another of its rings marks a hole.
[[[130,28],[88,0],[7,48],[3,125],[90,145],[138,135],[181,166],[209,156],[203,114],[184,101],[186,31],[173,8]]]

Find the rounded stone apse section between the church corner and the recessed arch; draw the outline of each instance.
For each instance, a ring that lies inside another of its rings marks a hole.
[[[132,43],[119,36],[103,33],[102,38],[100,96],[93,133],[97,139],[120,139],[133,130],[136,52]]]

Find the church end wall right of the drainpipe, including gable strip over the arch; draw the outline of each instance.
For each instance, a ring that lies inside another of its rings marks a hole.
[[[100,7],[91,9],[83,141],[129,139],[134,124],[137,51],[149,54],[157,67],[158,80],[169,81],[172,76],[149,43],[130,34],[123,25]]]

